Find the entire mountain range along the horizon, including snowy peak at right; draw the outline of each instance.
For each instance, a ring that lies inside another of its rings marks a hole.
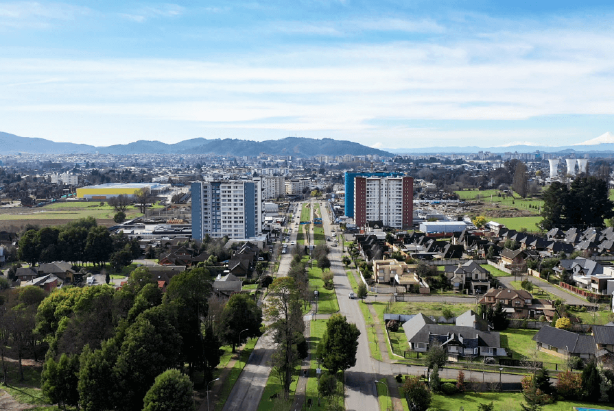
[[[421,147],[401,149],[376,149],[348,140],[333,140],[331,138],[304,138],[287,137],[281,140],[239,140],[237,138],[224,138],[209,140],[206,138],[192,138],[174,144],[160,141],[139,140],[125,145],[110,145],[96,147],[72,142],[54,142],[45,138],[20,137],[14,134],[0,132],[0,147],[3,153],[41,153],[41,154],[78,154],[100,153],[114,155],[131,154],[213,154],[213,155],[258,155],[259,153],[292,155],[298,158],[307,158],[314,155],[381,155],[384,157],[396,154],[462,154],[477,153],[478,151],[491,151],[491,153],[532,153],[545,151],[567,155],[570,153],[590,153],[591,156],[611,156],[614,153],[614,135],[607,132],[597,138],[574,145],[559,147],[539,145],[510,145],[506,147]]]

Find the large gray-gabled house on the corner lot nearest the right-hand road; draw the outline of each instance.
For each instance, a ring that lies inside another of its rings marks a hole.
[[[488,329],[488,323],[471,310],[458,316],[456,325],[439,325],[422,313],[403,324],[410,349],[426,352],[432,345],[439,344],[451,360],[506,356],[499,333]]]

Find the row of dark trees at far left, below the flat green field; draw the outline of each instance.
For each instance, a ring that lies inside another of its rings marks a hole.
[[[106,227],[97,225],[90,216],[59,227],[29,227],[19,239],[17,258],[32,266],[57,260],[73,265],[112,261],[116,268],[121,268],[140,254],[137,240],[128,240],[123,233],[111,236]]]

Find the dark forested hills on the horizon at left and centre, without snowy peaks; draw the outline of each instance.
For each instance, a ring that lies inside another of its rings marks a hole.
[[[111,145],[108,147],[95,147],[70,142],[53,142],[44,138],[19,137],[14,134],[0,132],[0,147],[4,153],[95,153],[101,154],[215,154],[215,155],[258,155],[259,153],[293,155],[304,158],[314,155],[382,155],[391,156],[392,153],[379,149],[372,149],[357,142],[346,140],[332,140],[331,138],[302,138],[287,137],[281,140],[239,140],[192,138],[175,144],[160,141],[139,140],[125,145]]]

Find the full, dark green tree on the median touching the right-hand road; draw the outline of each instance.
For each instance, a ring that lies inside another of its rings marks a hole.
[[[327,321],[326,332],[318,344],[318,358],[332,374],[355,366],[358,336],[355,324],[348,323],[345,316],[333,314]]]

